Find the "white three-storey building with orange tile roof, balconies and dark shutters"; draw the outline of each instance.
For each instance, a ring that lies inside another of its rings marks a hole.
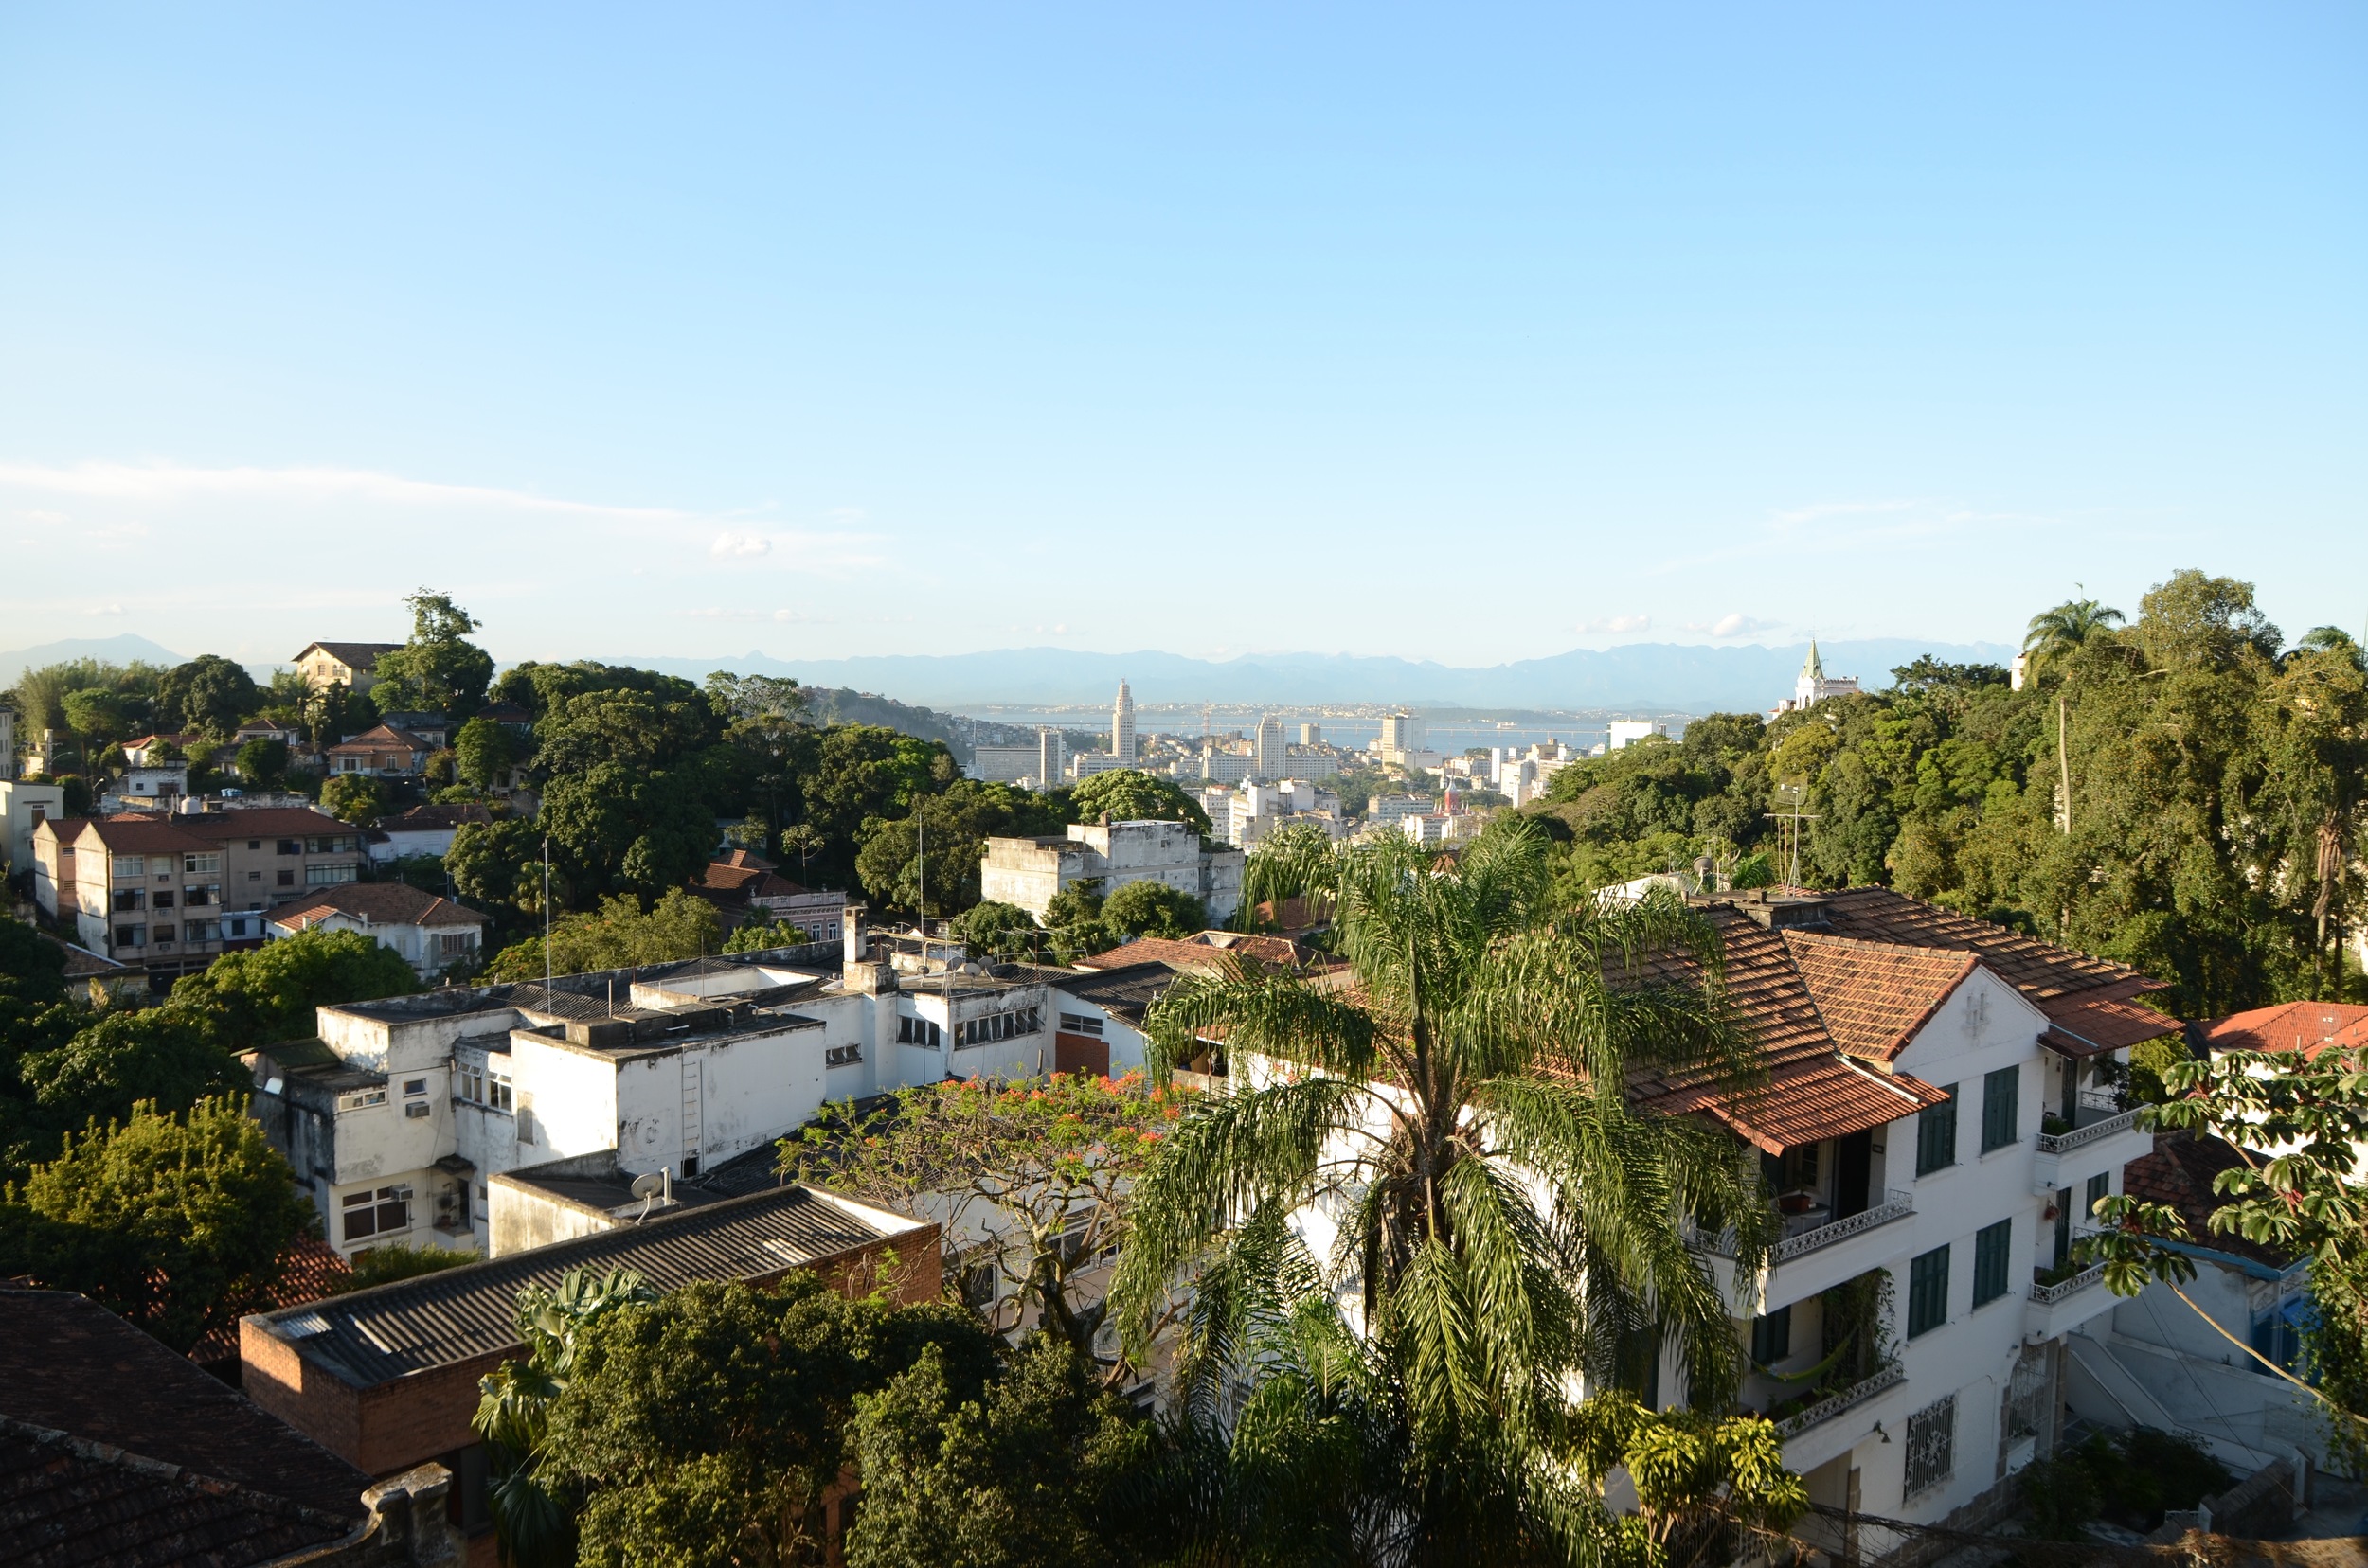
[[[2129,1047],[2181,1026],[2131,969],[1890,888],[1695,905],[1769,1082],[1648,1099],[1729,1127],[1778,1194],[1757,1272],[1693,1236],[1750,1348],[1745,1402],[1814,1502],[1980,1518],[2060,1435],[2065,1336],[2117,1305],[2072,1241],[2153,1149]],[[1674,1362],[1650,1388],[1681,1397]]]

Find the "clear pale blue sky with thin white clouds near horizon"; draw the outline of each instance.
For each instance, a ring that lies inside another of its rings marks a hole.
[[[9,7],[0,647],[2368,618],[2361,7]]]

